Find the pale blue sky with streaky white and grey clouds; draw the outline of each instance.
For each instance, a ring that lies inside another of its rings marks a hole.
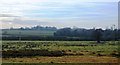
[[[118,0],[0,0],[0,28],[118,26]]]

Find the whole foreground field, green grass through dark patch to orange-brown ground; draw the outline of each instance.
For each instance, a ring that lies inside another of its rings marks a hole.
[[[118,41],[3,41],[3,63],[118,63]]]

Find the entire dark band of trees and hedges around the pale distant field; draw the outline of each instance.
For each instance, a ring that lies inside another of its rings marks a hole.
[[[14,28],[12,28],[14,29]],[[11,30],[12,30],[11,29]],[[15,29],[14,29],[15,30]],[[46,40],[46,41],[92,41],[97,40],[120,40],[120,29],[83,29],[83,28],[61,28],[36,26],[32,28],[19,28],[17,30],[54,30],[53,36],[2,36],[2,40]],[[3,34],[4,35],[4,34]],[[20,39],[19,39],[20,38]]]

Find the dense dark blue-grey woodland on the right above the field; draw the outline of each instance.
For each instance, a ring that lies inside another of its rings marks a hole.
[[[119,40],[120,30],[118,29],[71,29],[63,28],[54,33],[54,36],[80,37],[81,39],[97,40]]]

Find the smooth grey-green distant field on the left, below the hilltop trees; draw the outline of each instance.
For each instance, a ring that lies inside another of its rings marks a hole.
[[[53,33],[55,31],[45,31],[45,30],[4,30],[2,33],[9,34],[9,35],[19,35],[19,32],[21,32],[21,35],[26,36],[53,36]]]

